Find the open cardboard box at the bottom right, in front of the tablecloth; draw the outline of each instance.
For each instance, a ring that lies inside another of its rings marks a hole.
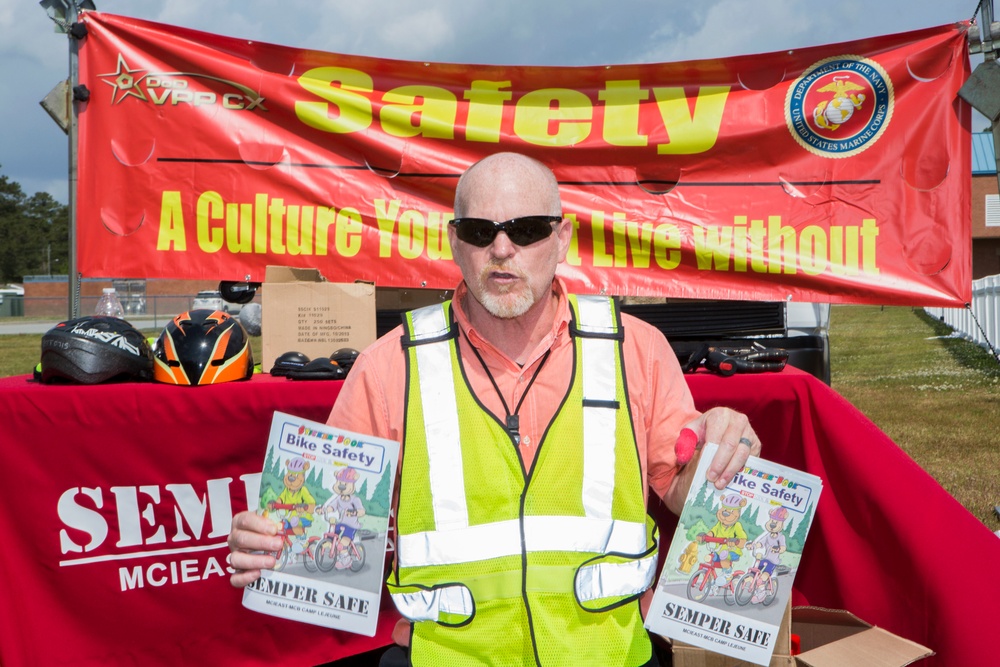
[[[802,652],[795,656],[791,655],[791,634],[800,639]],[[934,651],[848,611],[794,607],[785,609],[770,667],[902,667],[929,655]],[[753,663],[679,641],[673,643],[673,662],[674,667],[753,667]]]

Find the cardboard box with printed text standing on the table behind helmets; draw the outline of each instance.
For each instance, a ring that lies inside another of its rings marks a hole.
[[[375,286],[327,282],[317,269],[268,266],[261,288],[264,372],[285,352],[310,359],[375,341]]]

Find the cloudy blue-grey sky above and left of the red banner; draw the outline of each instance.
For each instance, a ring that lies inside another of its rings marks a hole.
[[[554,66],[677,62],[835,44],[968,20],[977,3],[94,0],[109,14],[333,53]],[[981,55],[972,56],[973,67],[980,62]],[[0,175],[26,194],[48,192],[63,203],[68,139],[39,102],[68,73],[68,38],[55,32],[37,0],[0,0]],[[980,116],[973,130],[985,124]]]

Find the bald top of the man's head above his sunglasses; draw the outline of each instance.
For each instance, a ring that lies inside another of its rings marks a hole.
[[[458,179],[456,218],[478,215],[476,210],[520,205],[541,207],[531,210],[532,214],[562,215],[555,174],[538,160],[517,153],[495,153],[473,164]]]

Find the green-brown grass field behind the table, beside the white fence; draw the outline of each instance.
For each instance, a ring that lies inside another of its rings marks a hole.
[[[834,306],[831,375],[990,530],[1000,529],[1000,363],[922,309]],[[158,332],[146,332],[156,335]],[[40,334],[0,336],[0,377],[30,373]],[[260,338],[252,339],[260,361]],[[994,342],[996,344],[996,342]]]

